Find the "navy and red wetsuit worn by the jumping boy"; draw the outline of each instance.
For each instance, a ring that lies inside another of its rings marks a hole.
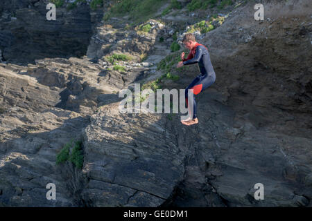
[[[200,69],[200,75],[198,75],[191,84],[185,89],[185,99],[188,106],[188,92],[189,89],[193,89],[193,94],[198,95],[202,90],[205,90],[211,84],[216,81],[216,73],[214,73],[214,68],[212,67],[208,49],[202,44],[198,44],[192,48],[191,52],[187,56],[187,59],[183,59],[184,65],[196,64],[198,63],[198,68]],[[197,117],[196,115],[196,101],[193,98],[193,119]]]

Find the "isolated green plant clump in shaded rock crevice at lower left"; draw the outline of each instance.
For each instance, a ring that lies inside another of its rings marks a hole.
[[[83,169],[83,150],[82,142],[76,141],[73,145],[73,140],[65,144],[56,155],[56,164],[62,164],[64,162],[72,162],[78,169]]]

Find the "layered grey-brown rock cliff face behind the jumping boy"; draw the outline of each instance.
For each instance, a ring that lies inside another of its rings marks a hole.
[[[106,9],[87,3],[61,7],[53,24],[41,19],[46,1],[0,3],[0,206],[312,205],[308,0],[261,1],[263,21],[254,1],[237,1],[217,28],[197,33],[216,71],[196,97],[198,124],[119,112],[123,88],[168,71],[180,78],[162,88],[186,88],[198,75],[170,64],[183,50],[171,52],[173,41],[215,13],[188,13],[188,2],[143,23],[148,32],[126,28],[127,17],[98,21]],[[110,59],[119,54],[130,59]],[[74,141],[82,168],[56,164]],[[48,183],[57,200],[46,200]],[[264,200],[254,199],[257,183]]]

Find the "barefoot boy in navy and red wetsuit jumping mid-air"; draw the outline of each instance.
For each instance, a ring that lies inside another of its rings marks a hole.
[[[208,49],[202,44],[198,44],[194,35],[191,33],[184,35],[182,42],[190,52],[186,59],[184,58],[184,52],[182,52],[182,61],[177,64],[177,68],[197,63],[200,69],[200,75],[193,79],[191,84],[185,89],[187,106],[189,106],[189,103],[193,103],[193,111],[191,111],[193,116],[190,116],[187,120],[181,122],[182,124],[189,126],[198,123],[195,97],[193,97],[193,101],[188,101],[189,90],[193,90],[193,95],[198,95],[200,92],[211,86],[211,84],[214,84],[214,81],[216,81],[216,73],[214,73],[214,68],[211,64]]]

